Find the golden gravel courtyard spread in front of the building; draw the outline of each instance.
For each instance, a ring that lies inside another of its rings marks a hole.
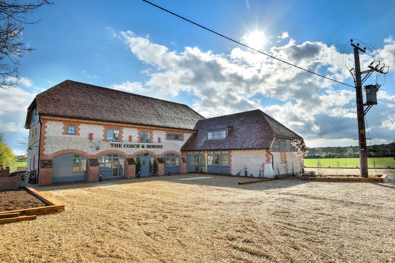
[[[0,261],[395,261],[394,181],[200,176],[36,187],[66,210],[0,225]]]

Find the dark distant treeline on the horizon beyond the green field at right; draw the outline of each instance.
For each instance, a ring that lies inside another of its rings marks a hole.
[[[395,157],[395,141],[389,144],[368,145],[368,157]],[[318,158],[359,158],[359,147],[317,147],[307,148],[307,159]],[[373,152],[373,155],[372,155]]]

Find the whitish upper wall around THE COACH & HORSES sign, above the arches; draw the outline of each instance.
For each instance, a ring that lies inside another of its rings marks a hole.
[[[56,121],[48,121],[47,128],[45,131],[45,151],[44,154],[50,155],[59,150],[66,149],[77,149],[87,152],[88,154],[97,154],[104,150],[120,150],[127,155],[132,155],[139,150],[144,150],[145,148],[111,148],[110,142],[103,142],[103,135],[105,128],[101,125],[92,124],[79,124],[80,135],[64,135],[63,123]],[[135,128],[123,128],[122,138],[124,142],[128,142],[128,136],[133,136],[133,142],[137,143],[137,129]],[[95,150],[96,147],[88,140],[88,133],[94,134],[93,142],[97,145],[100,141],[100,151]],[[184,134],[184,141],[171,141],[165,139],[165,131],[153,131],[153,142],[158,142],[158,137],[162,138],[163,148],[149,148],[148,150],[161,155],[163,152],[168,150],[174,150],[176,152],[181,151],[182,145],[189,139],[192,133]]]

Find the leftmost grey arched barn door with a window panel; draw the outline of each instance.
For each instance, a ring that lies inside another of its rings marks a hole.
[[[52,182],[87,180],[87,158],[79,154],[62,154],[52,159]]]

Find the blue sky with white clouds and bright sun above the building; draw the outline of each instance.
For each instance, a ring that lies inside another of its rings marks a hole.
[[[385,1],[374,5],[369,1],[358,5],[253,0],[154,3],[351,85],[342,64],[344,45],[350,38],[373,45],[392,71],[367,121],[372,143],[393,141],[393,5]],[[55,1],[28,16],[31,21],[38,18],[42,22],[26,25],[21,39],[36,49],[21,59],[22,85],[0,91],[0,131],[15,153],[21,152],[15,137],[26,133],[26,104],[65,79],[185,103],[207,117],[260,108],[301,134],[310,147],[357,144],[353,88],[275,63],[142,1]],[[369,59],[361,58],[362,64]]]

